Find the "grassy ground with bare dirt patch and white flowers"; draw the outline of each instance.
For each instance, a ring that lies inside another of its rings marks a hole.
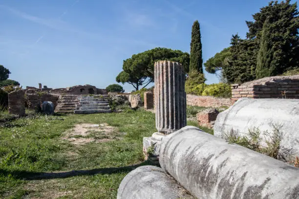
[[[111,128],[106,133],[72,134],[76,125],[87,123]],[[91,115],[31,114],[2,122],[0,198],[115,199],[128,172],[149,164],[143,160],[142,138],[155,131],[154,114],[142,109]],[[72,139],[91,141],[76,144]]]

